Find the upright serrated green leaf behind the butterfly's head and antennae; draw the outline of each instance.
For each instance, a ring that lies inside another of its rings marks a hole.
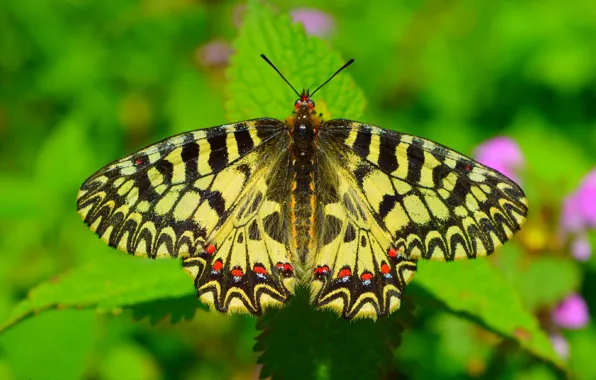
[[[265,54],[292,83],[315,90],[347,60],[322,40],[307,37],[301,24],[292,24],[287,14],[274,14],[256,0],[248,2],[236,54],[228,69],[226,103],[231,121],[258,117],[285,119],[297,99],[292,89],[259,57]],[[357,64],[357,63],[356,63]],[[323,117],[358,119],[365,100],[348,70],[343,71],[314,96]]]

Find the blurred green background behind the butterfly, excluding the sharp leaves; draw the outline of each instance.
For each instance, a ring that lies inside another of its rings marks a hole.
[[[596,308],[595,259],[572,249],[573,236],[594,241],[593,225],[567,238],[560,227],[565,197],[596,165],[596,2],[270,4],[356,59],[349,72],[367,99],[362,121],[469,155],[495,136],[519,144],[531,215],[493,262],[568,374],[596,378],[589,314],[580,306],[584,323],[573,326],[552,316],[571,294]],[[244,9],[215,0],[0,2],[0,321],[36,285],[120,254],[75,212],[86,177],[175,133],[236,121],[224,88]],[[565,376],[469,320],[428,309],[417,318],[394,353],[407,378]],[[52,309],[0,335],[0,379],[255,378],[256,335],[250,317],[203,311],[154,326],[127,310]]]

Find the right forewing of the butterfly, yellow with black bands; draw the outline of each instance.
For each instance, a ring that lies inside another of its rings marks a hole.
[[[348,120],[321,129],[375,220],[408,258],[492,253],[521,228],[527,200],[513,181],[440,144]]]

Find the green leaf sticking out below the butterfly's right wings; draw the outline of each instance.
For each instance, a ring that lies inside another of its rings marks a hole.
[[[536,317],[524,307],[515,287],[489,259],[419,262],[414,283],[452,312],[471,318],[516,341],[532,354],[564,367]]]

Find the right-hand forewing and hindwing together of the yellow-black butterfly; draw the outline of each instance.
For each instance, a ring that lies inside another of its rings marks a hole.
[[[319,199],[312,295],[347,318],[399,307],[417,259],[488,255],[525,221],[519,186],[432,141],[331,120],[319,148],[319,188],[334,191]]]

